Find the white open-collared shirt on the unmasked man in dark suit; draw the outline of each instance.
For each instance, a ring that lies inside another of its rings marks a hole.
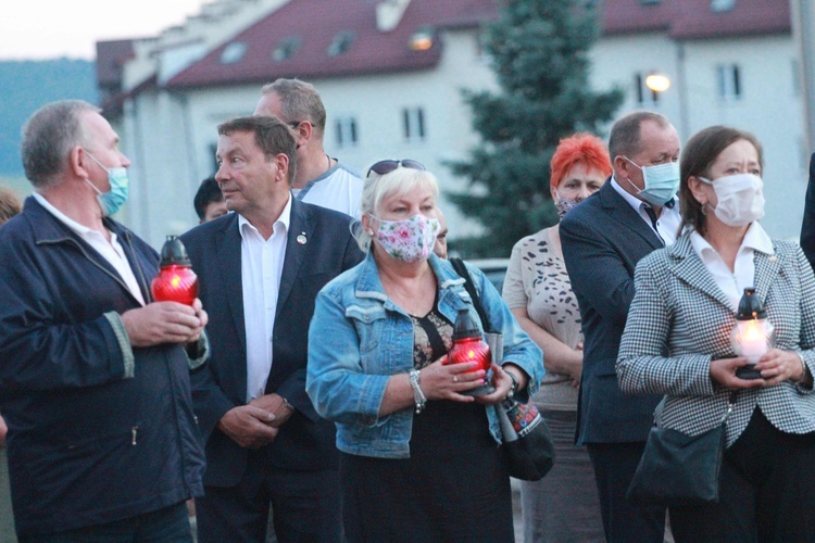
[[[272,348],[280,290],[291,197],[264,240],[249,220],[238,215],[240,276],[243,281],[243,325],[247,330],[247,402],[262,396],[272,370]]]

